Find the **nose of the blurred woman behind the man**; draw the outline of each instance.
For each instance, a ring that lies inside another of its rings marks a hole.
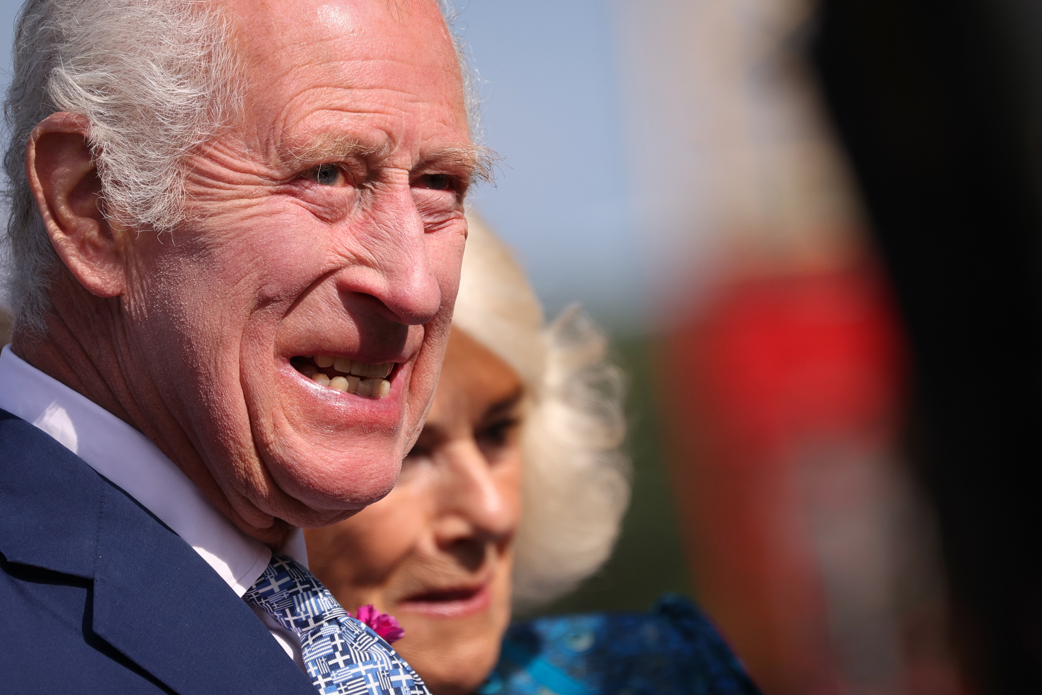
[[[473,439],[452,442],[443,449],[440,515],[435,528],[439,545],[464,540],[501,543],[517,528],[516,494],[505,489],[516,480],[497,480],[495,469]]]

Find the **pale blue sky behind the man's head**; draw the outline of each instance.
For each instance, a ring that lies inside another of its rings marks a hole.
[[[0,0],[6,75],[20,2]],[[485,144],[504,158],[474,206],[518,251],[552,316],[581,301],[606,323],[640,315],[641,254],[606,0],[457,0],[483,96]]]

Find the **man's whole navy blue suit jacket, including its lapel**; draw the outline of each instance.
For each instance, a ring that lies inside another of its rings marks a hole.
[[[0,693],[315,695],[176,533],[0,411]]]

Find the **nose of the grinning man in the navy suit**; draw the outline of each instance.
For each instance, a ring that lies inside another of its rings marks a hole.
[[[441,308],[442,293],[427,237],[407,185],[381,192],[363,238],[355,240],[365,247],[367,272],[351,273],[343,289],[372,296],[397,323],[430,321]]]

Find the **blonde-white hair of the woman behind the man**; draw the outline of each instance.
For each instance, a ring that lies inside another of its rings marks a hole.
[[[510,249],[468,220],[453,326],[514,368],[529,394],[514,547],[514,605],[525,610],[571,591],[612,553],[629,501],[622,375],[577,307],[544,326]]]

